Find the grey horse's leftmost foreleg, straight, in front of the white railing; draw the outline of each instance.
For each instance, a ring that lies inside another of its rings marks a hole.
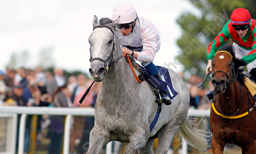
[[[105,130],[97,128],[94,125],[90,132],[89,149],[87,154],[98,154],[102,147],[109,142],[109,134],[104,131]]]

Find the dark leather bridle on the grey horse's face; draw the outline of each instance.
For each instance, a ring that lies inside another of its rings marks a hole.
[[[108,28],[108,29],[111,30],[111,32],[115,35],[115,33],[114,33],[114,31],[112,30],[112,28],[111,28],[110,26],[107,26],[107,25],[97,25],[97,26],[94,26],[93,30],[94,30],[95,28],[99,28],[99,27]],[[109,63],[111,63],[111,62],[113,61],[114,50],[115,50],[115,41],[114,41],[114,37],[113,37],[113,47],[112,47],[112,51],[111,51],[110,55],[108,56],[108,58],[105,59],[105,60],[103,60],[103,59],[101,59],[101,58],[98,58],[98,57],[92,58],[92,57],[91,57],[91,48],[90,48],[90,59],[89,59],[89,61],[90,61],[90,62],[92,62],[92,61],[94,61],[94,60],[100,60],[100,61],[102,61],[102,62],[104,63],[104,67],[105,67],[106,71],[108,71],[108,69],[109,69],[108,65],[109,65]],[[106,62],[108,62],[108,63],[106,64]]]

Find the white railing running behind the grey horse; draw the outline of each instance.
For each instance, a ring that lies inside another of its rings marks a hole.
[[[1,115],[4,114],[21,114],[20,119],[20,133],[19,133],[19,145],[18,145],[18,154],[24,153],[24,136],[25,136],[25,124],[27,114],[32,115],[66,115],[66,121],[64,126],[64,145],[63,145],[63,153],[69,153],[69,138],[70,138],[70,120],[72,116],[94,116],[94,108],[68,108],[68,107],[8,107],[1,106],[0,107]],[[210,110],[196,110],[189,109],[188,116],[193,117],[209,117]],[[13,122],[13,129],[16,128],[17,115],[15,116]],[[15,130],[13,130],[15,131]],[[16,131],[14,132],[16,133]],[[16,135],[14,135],[16,137]],[[16,141],[16,138],[13,138],[13,141]],[[16,143],[13,142],[13,145]],[[15,147],[13,147],[13,152],[15,153]],[[106,154],[112,154],[112,142],[110,142],[106,147]],[[187,143],[182,143],[182,153],[187,154]]]

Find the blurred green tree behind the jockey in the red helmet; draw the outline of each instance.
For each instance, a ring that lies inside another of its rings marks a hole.
[[[190,12],[184,12],[176,20],[176,22],[181,26],[183,30],[182,36],[180,37],[180,39],[177,40],[177,45],[181,48],[181,51],[184,51],[182,59],[182,64],[184,65],[185,68],[184,71],[191,72],[192,69],[195,70],[193,74],[205,75],[208,45],[222,30],[224,24],[227,22],[227,19],[221,16],[220,14],[224,15],[224,13],[226,12],[228,19],[230,19],[231,13],[234,11],[234,9],[246,8],[249,10],[252,19],[256,19],[256,1],[190,0],[190,2],[192,2],[192,4],[195,5],[201,11],[202,15],[201,18],[198,18]],[[223,9],[225,10],[225,12]],[[222,19],[222,21],[216,19],[219,25],[217,25],[212,20],[215,19],[215,17],[217,16],[219,16]],[[215,29],[214,26],[211,25],[211,23],[215,25]],[[212,32],[207,28],[207,26],[208,28],[212,29]],[[199,35],[200,32],[202,32],[202,30],[207,30],[209,35],[207,37],[205,37],[206,35]],[[193,42],[193,40],[197,41],[197,43],[195,41]],[[232,41],[229,40],[227,44],[231,45]],[[196,45],[197,47],[195,47]],[[189,52],[189,48],[187,46],[190,46],[190,48],[192,49],[191,53]],[[185,47],[187,47],[187,51],[184,50]]]

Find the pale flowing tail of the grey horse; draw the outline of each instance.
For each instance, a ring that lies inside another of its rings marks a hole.
[[[200,130],[196,124],[195,119],[186,117],[186,120],[181,124],[177,131],[178,140],[181,141],[181,136],[186,140],[187,144],[198,150],[206,150],[208,145],[208,139],[212,136],[210,132]],[[181,143],[181,142],[180,142]]]

